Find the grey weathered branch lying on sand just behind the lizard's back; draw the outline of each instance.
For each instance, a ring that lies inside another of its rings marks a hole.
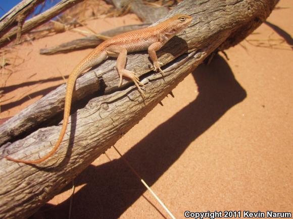
[[[150,26],[150,24],[135,24],[135,25],[128,25],[128,26],[123,26],[123,27],[118,27],[112,30],[108,30],[105,32],[100,33],[101,35],[104,36],[110,36],[113,37],[115,35],[118,35],[120,33],[125,33],[131,30],[137,30],[141,28],[145,28]],[[85,49],[85,48],[93,48],[96,47],[97,45],[101,44],[103,42],[102,39],[95,35],[90,35],[87,37],[83,37],[80,39],[72,40],[69,42],[62,43],[58,46],[53,46],[50,48],[41,48],[40,49],[40,54],[56,54],[60,52],[70,52],[70,51],[75,51],[78,49]]]

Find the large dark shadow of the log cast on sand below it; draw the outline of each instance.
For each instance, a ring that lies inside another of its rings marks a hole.
[[[192,141],[246,98],[246,91],[220,56],[209,66],[199,66],[192,75],[199,87],[197,98],[124,154],[149,186]],[[75,186],[82,188],[74,194],[71,218],[118,218],[146,190],[121,158],[97,167],[90,165],[75,179]],[[63,191],[67,189],[70,186]],[[69,199],[58,205],[46,204],[32,217],[65,218],[69,205]]]

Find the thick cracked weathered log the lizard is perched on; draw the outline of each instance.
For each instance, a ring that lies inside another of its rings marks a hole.
[[[277,1],[272,0],[186,0],[168,16],[189,14],[194,21],[188,29],[168,42],[159,52],[165,74],[150,71],[146,52],[129,56],[127,69],[138,72],[146,85],[142,99],[132,83],[123,81],[117,88],[115,61],[109,60],[77,81],[75,96],[87,96],[99,91],[71,116],[67,135],[57,153],[40,165],[24,165],[0,159],[0,217],[24,218],[50,200],[61,188],[84,170],[96,157],[141,120],[189,72],[218,49],[228,48],[244,39],[271,13]],[[167,65],[168,64],[168,65]],[[146,74],[148,73],[148,74]],[[102,75],[99,77],[99,75]],[[90,89],[88,89],[91,87]],[[16,118],[32,117],[34,132],[19,131],[12,143],[0,148],[4,156],[35,159],[44,155],[55,144],[61,124],[54,122],[62,111],[65,86],[29,106],[7,121],[18,125]],[[75,101],[74,105],[78,105]],[[53,118],[53,119],[52,119]],[[20,126],[21,127],[21,126]],[[19,128],[21,129],[21,128]],[[15,131],[11,129],[10,131]],[[10,135],[10,132],[7,132]],[[15,140],[22,137],[20,140]]]

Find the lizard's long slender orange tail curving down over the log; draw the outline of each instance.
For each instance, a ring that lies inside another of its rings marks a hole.
[[[12,157],[6,156],[5,158],[8,160],[12,160],[15,162],[23,162],[23,163],[40,163],[50,156],[52,156],[57,149],[59,148],[63,137],[66,132],[66,128],[68,125],[69,115],[70,115],[70,108],[71,108],[71,101],[72,101],[72,94],[73,94],[73,88],[76,82],[76,79],[78,76],[85,71],[86,69],[97,65],[107,59],[107,53],[106,51],[103,51],[102,46],[96,47],[86,58],[84,58],[72,71],[72,73],[69,75],[68,81],[67,81],[67,88],[66,88],[66,96],[65,96],[65,106],[64,106],[64,119],[62,124],[62,129],[59,135],[59,138],[57,140],[56,145],[52,148],[52,150],[46,154],[45,156],[35,159],[35,160],[23,160],[23,159],[14,159]]]

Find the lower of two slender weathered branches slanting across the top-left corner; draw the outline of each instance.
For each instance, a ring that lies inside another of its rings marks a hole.
[[[22,25],[21,34],[27,33],[28,31],[44,24],[45,22],[51,20],[52,18],[56,17],[60,13],[66,11],[67,9],[71,8],[72,6],[83,2],[84,0],[62,0],[56,6],[48,9],[47,11],[29,19]],[[13,39],[16,38],[17,34],[17,27],[12,28],[9,32],[4,34],[0,38],[0,47],[10,43]]]

